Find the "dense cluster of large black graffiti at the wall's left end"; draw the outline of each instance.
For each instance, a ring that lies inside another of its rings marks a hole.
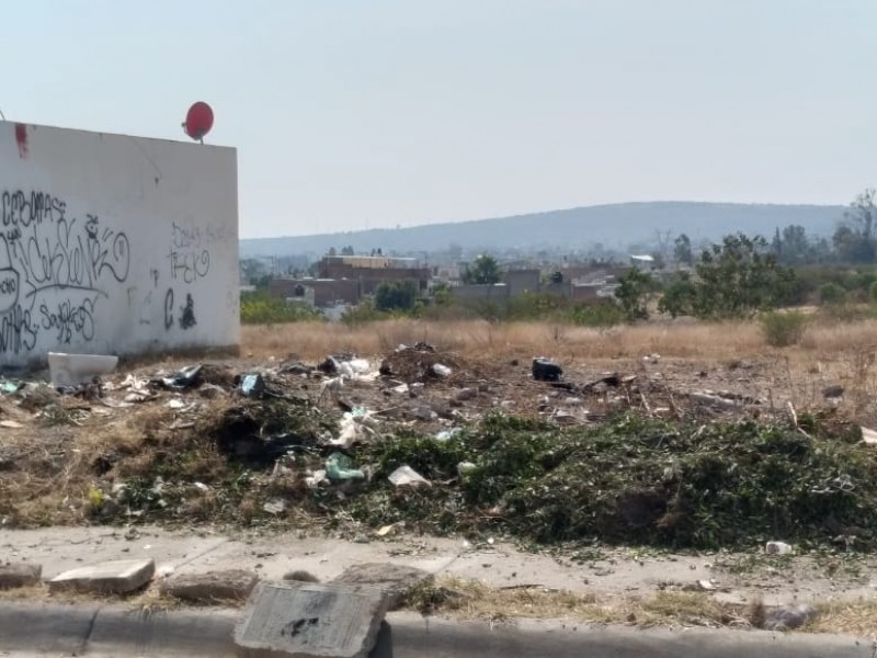
[[[0,353],[94,338],[95,310],[130,272],[124,231],[45,192],[0,193]]]

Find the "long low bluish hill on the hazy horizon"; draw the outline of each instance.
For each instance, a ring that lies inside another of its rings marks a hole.
[[[651,242],[657,231],[686,234],[693,241],[717,240],[729,232],[767,238],[789,224],[809,235],[828,236],[845,206],[731,204],[699,202],[622,203],[396,229],[371,229],[312,236],[241,240],[241,258],[324,253],[352,246],[356,252],[380,248],[385,253],[437,251],[449,245],[465,249],[586,249],[596,242],[624,249]]]

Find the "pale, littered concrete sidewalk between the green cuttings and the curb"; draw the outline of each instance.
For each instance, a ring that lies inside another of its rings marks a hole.
[[[744,602],[760,597],[767,605],[873,598],[872,565],[859,563],[858,580],[824,574],[812,559],[795,558],[782,568],[731,574],[717,567],[716,555],[642,555],[618,549],[602,559],[573,564],[547,553],[525,553],[494,542],[471,546],[463,540],[406,536],[361,542],[305,537],[297,533],[218,535],[204,531],[170,532],[156,527],[52,527],[0,530],[0,556],[10,563],[38,563],[43,578],[64,570],[115,559],[152,558],[157,575],[252,569],[262,579],[281,579],[304,569],[322,581],[358,563],[392,563],[435,575],[476,579],[493,587],[539,585],[604,597],[648,595],[668,585],[716,583],[719,600]],[[770,558],[765,559],[770,565]]]

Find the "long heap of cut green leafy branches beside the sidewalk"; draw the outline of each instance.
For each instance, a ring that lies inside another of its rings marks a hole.
[[[858,547],[874,546],[874,451],[855,426],[805,413],[799,422],[808,435],[752,420],[701,426],[624,415],[557,430],[488,415],[444,443],[403,434],[368,446],[360,461],[378,464],[379,476],[331,504],[371,527],[405,521],[437,534],[676,549],[751,547],[765,536],[827,544],[833,519],[863,529]],[[455,479],[462,461],[474,466]],[[386,475],[401,464],[448,484],[394,488]],[[501,513],[486,513],[492,509]]]

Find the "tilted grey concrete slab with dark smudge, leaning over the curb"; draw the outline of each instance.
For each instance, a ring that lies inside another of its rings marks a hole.
[[[235,644],[243,658],[367,658],[387,604],[368,586],[262,582]]]

